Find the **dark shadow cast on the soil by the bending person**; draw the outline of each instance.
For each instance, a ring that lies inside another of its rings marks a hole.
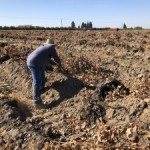
[[[51,86],[46,87],[46,90],[51,88],[59,92],[60,98],[53,100],[50,104],[47,104],[47,108],[52,108],[58,106],[62,101],[73,98],[79,93],[81,89],[86,87],[87,89],[95,89],[94,86],[85,85],[82,81],[74,77],[67,77],[64,81],[56,81]]]

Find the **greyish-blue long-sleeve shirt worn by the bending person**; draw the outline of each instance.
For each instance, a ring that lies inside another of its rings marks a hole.
[[[40,46],[27,57],[27,65],[45,69],[51,58],[58,64],[61,63],[60,58],[52,45]]]

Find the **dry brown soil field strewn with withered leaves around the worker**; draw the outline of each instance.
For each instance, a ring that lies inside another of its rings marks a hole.
[[[0,148],[149,149],[150,31],[1,31]],[[26,57],[53,37],[65,72],[46,71],[35,109]]]

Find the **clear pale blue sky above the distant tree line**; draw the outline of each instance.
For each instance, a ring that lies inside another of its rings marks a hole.
[[[0,26],[150,28],[150,0],[0,0]]]

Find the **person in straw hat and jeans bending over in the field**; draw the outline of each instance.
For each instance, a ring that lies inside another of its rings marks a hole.
[[[45,69],[50,59],[53,58],[58,67],[61,67],[61,60],[56,52],[52,39],[47,39],[44,45],[39,46],[27,57],[27,66],[32,74],[33,99],[35,106],[42,105],[41,91],[45,86]]]

